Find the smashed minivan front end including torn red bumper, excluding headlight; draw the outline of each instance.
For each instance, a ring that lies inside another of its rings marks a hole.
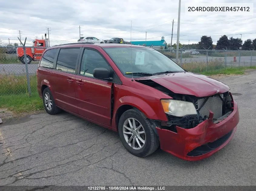
[[[217,152],[233,137],[239,112],[230,92],[196,97],[175,94],[150,80],[143,83],[168,94],[173,100],[191,102],[196,109],[193,115],[177,117],[166,112],[167,121],[151,120],[162,150],[188,161],[196,161]]]

